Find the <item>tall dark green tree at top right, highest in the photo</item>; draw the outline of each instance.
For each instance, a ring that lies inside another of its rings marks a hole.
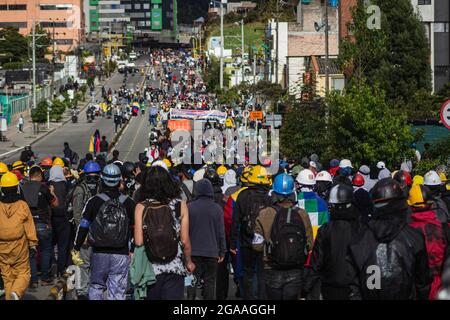
[[[341,44],[340,61],[350,77],[379,84],[401,106],[420,90],[431,91],[430,50],[425,28],[410,0],[373,0],[381,9],[381,29],[369,29],[363,1],[353,8],[354,40]]]

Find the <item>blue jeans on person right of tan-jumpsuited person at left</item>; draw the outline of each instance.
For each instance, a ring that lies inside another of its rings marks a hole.
[[[36,223],[36,234],[39,240],[39,252],[41,253],[41,280],[50,280],[51,260],[53,255],[52,227],[45,223]],[[31,283],[38,282],[36,256],[30,254]]]

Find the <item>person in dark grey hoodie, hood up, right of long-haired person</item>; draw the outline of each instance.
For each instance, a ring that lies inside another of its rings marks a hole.
[[[196,200],[188,204],[189,236],[192,246],[192,261],[196,265],[194,277],[203,279],[203,298],[213,300],[218,263],[226,252],[223,208],[214,203],[211,182],[202,179],[195,184]],[[196,285],[188,287],[188,297],[196,297]]]

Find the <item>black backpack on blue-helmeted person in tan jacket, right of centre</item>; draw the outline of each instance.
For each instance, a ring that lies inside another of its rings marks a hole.
[[[267,253],[280,269],[303,266],[308,256],[306,228],[294,208],[273,207],[277,214],[272,224]]]

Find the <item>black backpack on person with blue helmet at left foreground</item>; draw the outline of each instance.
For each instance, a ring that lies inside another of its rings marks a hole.
[[[89,230],[89,242],[98,248],[123,248],[128,243],[129,217],[125,208],[127,196],[111,199],[104,193],[97,195],[104,201]]]

